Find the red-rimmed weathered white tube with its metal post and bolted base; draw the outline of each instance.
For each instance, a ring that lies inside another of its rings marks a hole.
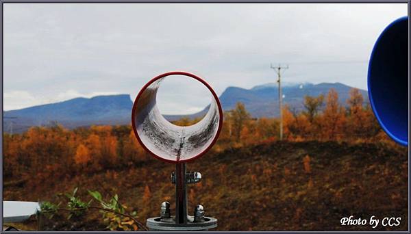
[[[212,96],[210,108],[202,120],[193,126],[172,125],[157,107],[157,92],[166,77],[179,75],[203,84]],[[175,164],[171,183],[175,183],[175,215],[164,200],[160,216],[147,218],[152,231],[206,231],[217,226],[217,219],[206,217],[201,204],[188,211],[187,185],[201,181],[200,172],[189,172],[186,161],[204,155],[216,142],[223,127],[223,108],[219,96],[197,75],[174,71],[151,79],[138,92],[132,109],[132,126],[138,142],[155,158]],[[195,199],[198,202],[198,199]],[[193,200],[194,202],[194,200]],[[174,212],[174,211],[173,211]],[[192,213],[191,213],[192,212]]]

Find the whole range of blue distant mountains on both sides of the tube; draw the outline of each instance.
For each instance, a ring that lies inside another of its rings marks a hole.
[[[340,102],[346,104],[349,98],[350,86],[343,83],[302,83],[288,84],[283,87],[284,104],[297,110],[303,109],[305,95],[318,96],[327,94],[334,88],[340,97]],[[367,92],[361,90],[364,101],[368,102]],[[224,110],[233,109],[237,102],[245,104],[253,117],[278,116],[278,88],[276,83],[255,86],[249,90],[238,87],[228,87],[220,96]],[[76,98],[60,103],[38,105],[24,109],[3,112],[4,131],[14,133],[26,131],[32,126],[51,126],[59,123],[67,128],[90,125],[127,125],[131,121],[132,100],[129,94],[95,96],[90,99]],[[206,109],[192,115],[165,116],[168,120],[182,117],[195,118],[203,116]]]

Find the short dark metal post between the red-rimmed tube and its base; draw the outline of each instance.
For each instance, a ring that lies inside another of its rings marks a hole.
[[[186,164],[175,164],[175,223],[187,223]]]

